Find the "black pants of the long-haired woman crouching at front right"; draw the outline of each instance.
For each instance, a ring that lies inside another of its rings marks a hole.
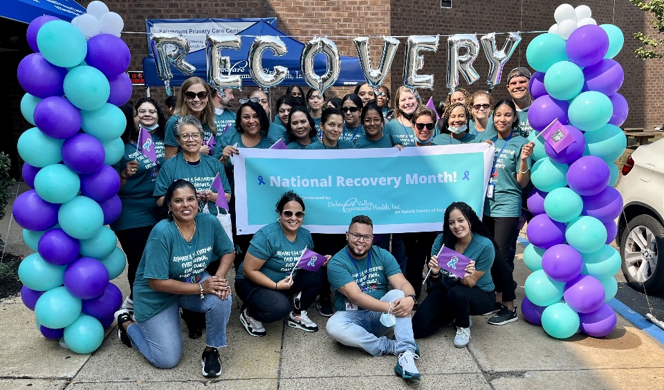
[[[439,284],[429,290],[426,299],[413,315],[413,335],[416,339],[436,333],[443,326],[454,323],[468,328],[469,315],[483,315],[495,305],[496,294],[481,288],[453,286],[448,290]]]

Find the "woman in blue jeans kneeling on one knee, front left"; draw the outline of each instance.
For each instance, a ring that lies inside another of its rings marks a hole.
[[[169,218],[150,233],[133,284],[136,322],[127,310],[118,310],[118,335],[155,366],[170,369],[182,353],[180,308],[205,313],[203,375],[221,375],[218,349],[227,345],[232,305],[226,273],[235,256],[233,244],[213,215],[199,214],[192,183],[175,180],[165,201]],[[205,267],[216,259],[221,264],[210,276]]]

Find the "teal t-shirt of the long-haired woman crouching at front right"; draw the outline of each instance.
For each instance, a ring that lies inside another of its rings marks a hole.
[[[443,234],[439,234],[434,240],[434,245],[431,248],[431,255],[434,256],[434,254],[438,254],[438,252],[441,251],[441,246],[443,246]],[[477,279],[475,286],[484,291],[493,291],[495,286],[493,285],[493,279],[491,278],[491,266],[493,266],[493,261],[496,258],[496,249],[491,240],[481,234],[473,234],[472,239],[470,239],[470,244],[468,244],[468,248],[465,248],[462,254],[475,261],[476,270],[484,271],[484,275]],[[441,268],[441,273],[445,276],[441,277],[441,283],[443,283],[448,289],[452,288],[452,286],[454,286],[454,279],[452,278],[456,277],[451,275],[450,279],[448,279],[450,273],[443,268]]]

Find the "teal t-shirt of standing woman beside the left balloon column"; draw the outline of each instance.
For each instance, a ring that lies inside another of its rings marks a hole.
[[[118,191],[118,196],[122,201],[122,212],[118,219],[111,223],[111,229],[114,231],[153,226],[159,222],[154,186],[160,167],[164,165],[164,140],[156,134],[151,134],[151,136],[154,150],[157,153],[156,163],[153,163],[140,151],[136,151],[138,145],[135,143],[125,143],[124,156],[113,165],[119,173],[124,171],[129,161],[138,161],[136,173],[129,176]]]

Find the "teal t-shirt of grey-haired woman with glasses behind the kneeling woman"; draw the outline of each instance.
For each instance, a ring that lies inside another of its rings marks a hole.
[[[181,153],[176,154],[173,158],[169,158],[165,163],[159,176],[157,176],[157,183],[154,187],[154,196],[157,198],[164,196],[168,186],[171,185],[175,180],[185,179],[188,182],[192,183],[196,188],[196,191],[207,191],[212,189],[212,192],[216,192],[216,189],[212,188],[212,181],[216,177],[216,174],[221,176],[221,184],[223,185],[223,192],[230,194],[230,185],[228,184],[228,178],[223,171],[223,165],[214,157],[210,156],[201,156],[201,160],[196,165],[191,165],[187,163],[185,158]],[[223,196],[220,194],[219,196]],[[199,201],[199,212],[203,212],[205,209],[205,202]],[[212,215],[218,214],[219,210],[214,202],[208,202],[208,211]],[[224,212],[222,212],[223,214]]]

